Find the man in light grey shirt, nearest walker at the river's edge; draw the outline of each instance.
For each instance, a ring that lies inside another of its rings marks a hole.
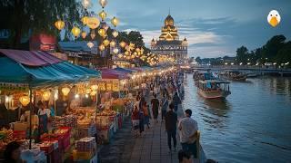
[[[197,158],[196,139],[198,125],[196,120],[191,119],[192,110],[185,110],[185,118],[179,120],[180,142],[182,149],[192,153]]]

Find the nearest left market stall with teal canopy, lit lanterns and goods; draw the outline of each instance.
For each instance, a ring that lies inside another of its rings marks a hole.
[[[100,72],[64,62],[49,53],[5,49],[0,49],[0,65],[4,70],[0,72],[0,99],[5,99],[1,103],[5,104],[4,108],[18,110],[18,121],[10,123],[10,127],[2,124],[7,129],[0,131],[0,153],[9,142],[17,141],[23,146],[22,158],[27,162],[45,157],[48,162],[61,162],[65,152],[71,149],[74,122],[65,121],[71,126],[63,123],[48,129],[55,110],[48,109],[48,105],[55,108],[54,101],[60,94],[68,98],[76,83],[88,85],[100,77]],[[75,89],[75,97],[78,96]],[[25,112],[21,113],[22,110]],[[40,134],[41,130],[44,134]]]

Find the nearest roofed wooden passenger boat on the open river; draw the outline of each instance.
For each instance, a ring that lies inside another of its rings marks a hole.
[[[231,94],[229,82],[220,80],[199,80],[196,84],[198,94],[205,99],[226,99]]]

